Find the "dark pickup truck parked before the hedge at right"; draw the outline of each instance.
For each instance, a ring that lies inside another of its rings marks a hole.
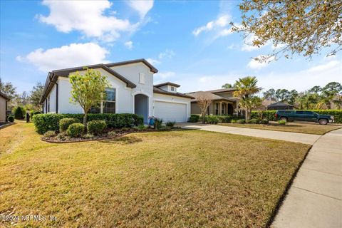
[[[324,125],[334,122],[333,115],[319,115],[307,110],[277,110],[275,117],[276,120],[310,121]]]

